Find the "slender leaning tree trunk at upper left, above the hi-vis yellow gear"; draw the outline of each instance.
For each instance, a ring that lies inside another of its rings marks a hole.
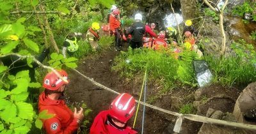
[[[41,11],[45,12],[45,10],[44,10],[45,7],[44,7],[43,4],[40,4],[39,8],[40,8]],[[47,19],[46,13],[43,15],[43,20],[44,20],[44,26],[45,26],[45,28],[47,29],[47,32],[49,33],[49,37],[50,37],[50,40],[51,40],[51,44],[52,44],[52,46],[54,47],[54,49],[56,50],[56,52],[59,53],[60,50],[59,50],[59,48],[58,48],[58,46],[57,46],[57,44],[56,44],[56,41],[54,40],[54,36],[53,36],[53,34],[52,34],[51,27],[50,27],[50,25],[49,25],[49,23],[48,23],[48,19]]]

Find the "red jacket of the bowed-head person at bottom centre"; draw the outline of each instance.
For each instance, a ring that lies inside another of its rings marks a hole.
[[[111,124],[107,123],[108,110],[100,112],[94,119],[93,124],[90,128],[90,134],[136,134],[135,130],[127,126],[124,130],[118,130]]]

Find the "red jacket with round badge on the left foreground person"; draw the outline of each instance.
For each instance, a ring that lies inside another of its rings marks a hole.
[[[42,120],[46,133],[75,133],[77,131],[77,119],[67,107],[64,100],[51,100],[41,93],[38,102],[39,112],[48,110],[47,114],[54,114],[51,119]]]

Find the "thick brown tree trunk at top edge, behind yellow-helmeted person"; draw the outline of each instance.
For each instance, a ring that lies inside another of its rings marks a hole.
[[[198,17],[196,0],[180,0],[183,20],[195,19]]]

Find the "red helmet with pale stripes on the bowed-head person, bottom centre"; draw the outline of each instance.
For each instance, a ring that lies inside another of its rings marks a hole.
[[[126,123],[135,111],[135,100],[127,93],[118,95],[109,107],[109,115],[122,123]]]

